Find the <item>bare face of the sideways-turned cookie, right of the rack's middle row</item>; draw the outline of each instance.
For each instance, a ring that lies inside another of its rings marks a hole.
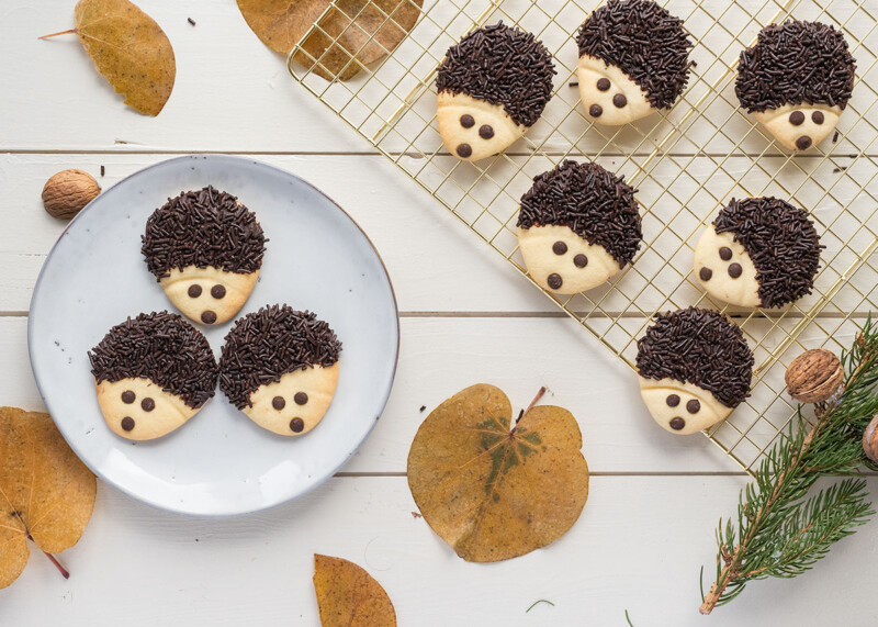
[[[695,276],[711,296],[743,307],[757,307],[756,267],[731,233],[717,233],[711,224],[695,249]]]

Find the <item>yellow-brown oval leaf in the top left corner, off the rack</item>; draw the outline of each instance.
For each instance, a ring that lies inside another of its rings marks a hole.
[[[125,104],[158,115],[177,77],[165,31],[128,0],[79,0],[74,18],[94,67],[125,97]]]

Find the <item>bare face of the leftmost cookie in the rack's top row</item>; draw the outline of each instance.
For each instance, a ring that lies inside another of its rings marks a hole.
[[[447,91],[439,94],[436,122],[448,152],[466,161],[502,153],[527,131],[499,104]]]

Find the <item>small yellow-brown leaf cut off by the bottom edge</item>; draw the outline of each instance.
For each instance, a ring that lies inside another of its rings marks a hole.
[[[387,593],[353,562],[315,555],[314,591],[323,627],[396,627]]]

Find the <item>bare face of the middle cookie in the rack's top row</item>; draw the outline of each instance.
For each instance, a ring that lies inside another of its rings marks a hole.
[[[655,111],[638,83],[597,57],[581,56],[576,76],[585,114],[593,122],[621,126]]]

